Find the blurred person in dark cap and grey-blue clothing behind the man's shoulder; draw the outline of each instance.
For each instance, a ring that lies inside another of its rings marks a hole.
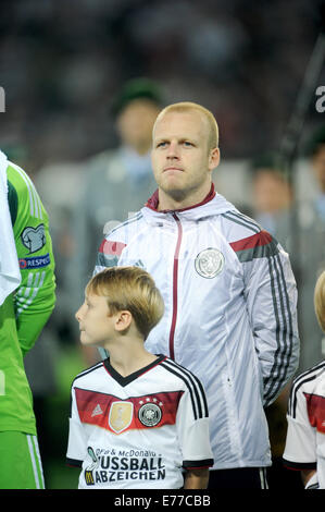
[[[105,230],[137,210],[154,190],[151,135],[162,103],[163,94],[153,81],[127,82],[112,101],[120,146],[91,157],[84,164],[84,192],[72,219],[74,249],[66,273],[73,310],[80,304],[85,283],[92,273],[91,248],[99,245]],[[97,356],[97,351],[92,353]]]

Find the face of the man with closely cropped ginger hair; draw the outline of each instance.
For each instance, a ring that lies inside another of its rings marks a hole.
[[[218,149],[209,150],[209,125],[195,110],[167,112],[155,124],[151,153],[159,187],[175,200],[205,188],[218,163]]]

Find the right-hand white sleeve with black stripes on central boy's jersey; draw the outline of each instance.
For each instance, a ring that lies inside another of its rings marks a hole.
[[[200,470],[213,465],[210,447],[209,411],[201,382],[192,376],[179,401],[176,416],[183,467]]]

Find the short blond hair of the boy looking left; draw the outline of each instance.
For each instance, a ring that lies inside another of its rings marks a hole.
[[[110,313],[128,310],[146,340],[164,314],[164,301],[152,277],[139,267],[111,267],[92,277],[86,293],[104,296]]]

